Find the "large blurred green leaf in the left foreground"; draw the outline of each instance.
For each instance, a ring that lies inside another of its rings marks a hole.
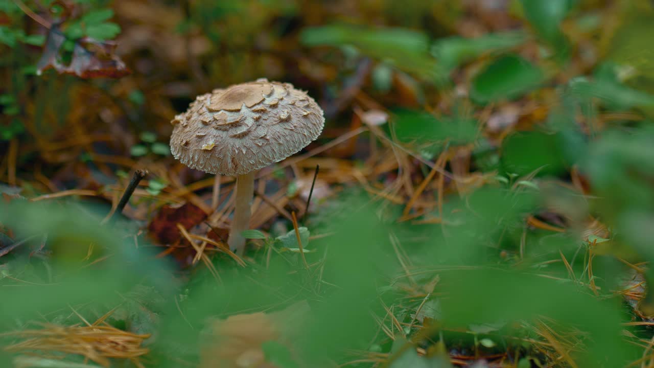
[[[175,289],[165,261],[136,248],[122,230],[99,225],[106,210],[75,202],[0,201],[0,223],[14,231],[16,240],[46,236],[52,251],[52,283],[15,280],[14,287],[0,289],[5,318],[89,301],[118,303],[116,292],[127,293],[139,282],[152,283],[162,295]]]

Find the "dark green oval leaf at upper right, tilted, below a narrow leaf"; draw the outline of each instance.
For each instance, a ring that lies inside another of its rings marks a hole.
[[[470,97],[479,104],[513,100],[543,81],[543,72],[536,65],[517,55],[507,55],[491,62],[475,75]]]

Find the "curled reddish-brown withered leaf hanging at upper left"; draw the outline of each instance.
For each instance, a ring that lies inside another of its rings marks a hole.
[[[41,60],[37,63],[39,75],[47,69],[55,69],[61,74],[73,74],[80,78],[120,78],[131,73],[125,63],[114,54],[116,43],[99,42],[88,37],[78,39],[73,48],[70,65],[60,62],[61,46],[66,41],[61,33],[60,24],[52,24],[46,37]]]

